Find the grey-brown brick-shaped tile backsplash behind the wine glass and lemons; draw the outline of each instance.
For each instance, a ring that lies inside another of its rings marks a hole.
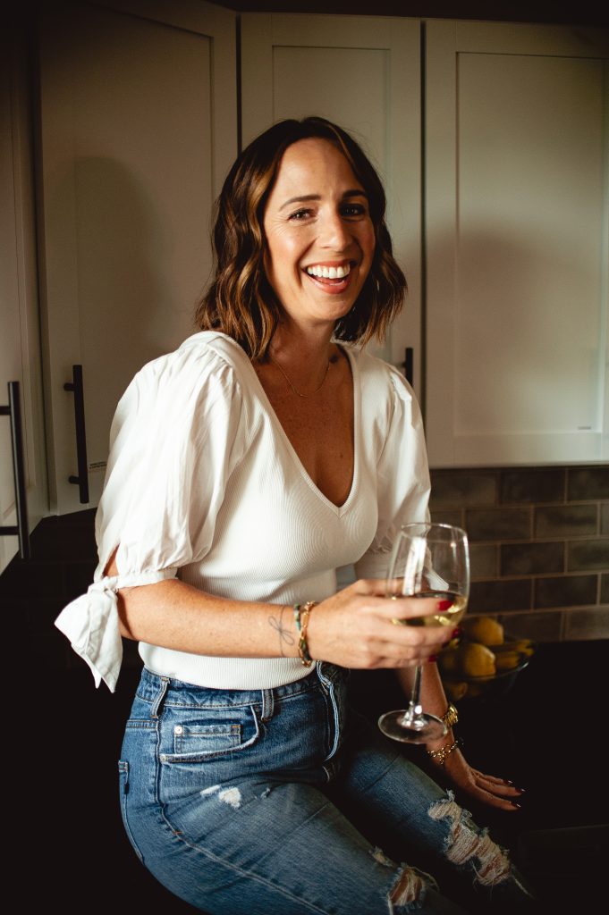
[[[538,641],[609,638],[609,467],[432,470],[431,515],[469,535],[468,612]]]

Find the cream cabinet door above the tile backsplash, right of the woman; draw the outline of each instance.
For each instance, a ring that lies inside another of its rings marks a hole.
[[[607,448],[609,33],[427,26],[427,430],[441,466]]]

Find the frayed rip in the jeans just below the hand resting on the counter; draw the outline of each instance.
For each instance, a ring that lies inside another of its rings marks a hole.
[[[505,849],[496,845],[485,830],[477,832],[470,814],[455,803],[451,796],[434,803],[429,813],[432,820],[448,818],[451,821],[445,850],[452,864],[471,863],[476,879],[483,886],[495,886],[506,880],[511,865]]]

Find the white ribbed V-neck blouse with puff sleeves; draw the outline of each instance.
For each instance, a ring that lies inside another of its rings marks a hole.
[[[119,588],[177,575],[221,597],[291,605],[332,595],[344,565],[385,576],[397,527],[427,516],[419,406],[386,362],[344,351],[354,468],[340,507],[310,479],[233,339],[195,334],[136,374],[111,429],[94,581],[56,621],[96,685],[114,692],[120,671]],[[104,577],[117,546],[119,574]],[[218,658],[143,642],[139,651],[154,673],[215,688],[266,689],[309,673],[298,658]]]

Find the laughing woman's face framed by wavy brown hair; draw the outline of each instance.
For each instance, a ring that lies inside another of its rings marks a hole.
[[[328,140],[288,146],[266,203],[266,275],[288,318],[307,327],[343,318],[375,253],[364,188]]]

